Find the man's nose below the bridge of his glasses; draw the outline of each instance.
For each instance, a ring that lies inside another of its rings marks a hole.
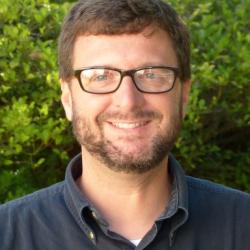
[[[132,77],[124,76],[120,87],[113,93],[113,104],[128,112],[142,107],[144,102],[144,94],[136,88]]]

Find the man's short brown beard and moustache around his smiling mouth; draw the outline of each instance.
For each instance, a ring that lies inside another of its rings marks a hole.
[[[159,132],[147,143],[146,149],[143,148],[137,151],[136,154],[126,152],[126,150],[121,149],[116,143],[106,138],[103,122],[108,118],[117,120],[129,120],[131,118],[137,120],[151,119],[160,122],[163,119],[163,115],[160,112],[137,110],[129,114],[121,114],[119,112],[103,113],[96,118],[96,124],[99,129],[99,133],[96,133],[91,129],[90,122],[83,116],[78,115],[74,110],[72,119],[73,133],[78,143],[92,157],[109,169],[123,173],[145,173],[159,166],[172,150],[182,123],[182,109],[180,107],[181,105],[178,108],[178,112],[170,117],[169,123],[164,130],[160,132],[159,129]],[[133,144],[133,142],[136,143],[136,140],[140,140],[140,138],[131,136],[126,138],[123,144]]]

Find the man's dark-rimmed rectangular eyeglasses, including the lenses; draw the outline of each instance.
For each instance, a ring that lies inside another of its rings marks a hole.
[[[132,70],[120,70],[109,67],[88,67],[74,71],[83,91],[92,94],[115,92],[124,76],[130,76],[135,87],[143,93],[164,93],[174,87],[179,75],[178,68],[151,66]]]

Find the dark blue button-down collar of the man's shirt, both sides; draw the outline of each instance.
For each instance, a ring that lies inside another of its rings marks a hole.
[[[186,177],[180,164],[176,161],[173,155],[169,155],[169,173],[172,177],[172,192],[168,206],[164,213],[159,217],[159,220],[167,218],[173,218],[170,229],[170,244],[173,241],[173,237],[177,229],[183,225],[188,219],[188,189],[186,183]],[[82,227],[83,222],[82,213],[87,207],[90,207],[90,203],[84,194],[80,191],[76,185],[75,180],[82,174],[82,158],[81,154],[76,155],[68,164],[65,175],[65,201]],[[85,224],[86,226],[86,224]],[[86,231],[88,228],[84,227]]]

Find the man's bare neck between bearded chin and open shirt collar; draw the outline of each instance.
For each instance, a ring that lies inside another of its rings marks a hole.
[[[166,208],[171,183],[167,157],[154,169],[114,172],[84,151],[80,189],[109,223],[110,230],[128,239],[142,238]]]

